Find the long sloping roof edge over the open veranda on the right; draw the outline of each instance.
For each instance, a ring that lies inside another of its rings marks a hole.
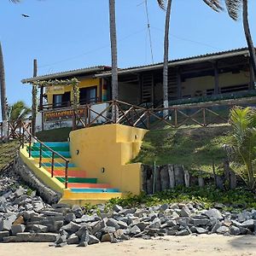
[[[247,56],[249,55],[249,51],[247,48],[240,48],[240,49],[230,49],[225,51],[219,51],[219,52],[206,54],[206,55],[195,55],[191,57],[169,61],[168,66],[177,67],[181,65],[194,64],[201,61],[214,61],[220,58],[227,58],[227,57],[233,57],[238,55]],[[163,67],[163,62],[145,65],[145,66],[138,66],[138,67],[126,67],[126,68],[119,69],[119,74],[143,72],[143,71],[159,69],[162,67]],[[111,71],[96,74],[96,77],[99,77],[99,78],[108,77],[108,76],[111,76]]]

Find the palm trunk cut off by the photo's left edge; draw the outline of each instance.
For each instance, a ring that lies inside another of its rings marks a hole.
[[[2,45],[0,43],[0,85],[1,85],[1,109],[2,109],[2,119],[7,121],[7,109],[6,109],[6,87],[5,87],[5,73],[3,65],[3,51]]]

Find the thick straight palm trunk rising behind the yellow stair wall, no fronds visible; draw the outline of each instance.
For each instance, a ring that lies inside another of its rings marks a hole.
[[[111,42],[111,59],[112,59],[112,100],[117,100],[119,95],[118,89],[118,61],[117,61],[117,43],[116,43],[116,24],[115,24],[115,0],[109,0],[109,27]],[[113,106],[112,118],[115,123],[118,119],[118,109]]]

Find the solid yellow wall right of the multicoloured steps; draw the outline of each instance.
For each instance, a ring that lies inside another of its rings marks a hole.
[[[127,164],[139,152],[147,130],[126,125],[100,125],[70,133],[73,162],[99,183],[138,195],[141,164]],[[79,154],[77,154],[79,150]],[[104,167],[105,172],[102,172]]]

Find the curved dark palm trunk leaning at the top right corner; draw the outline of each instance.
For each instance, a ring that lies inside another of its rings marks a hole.
[[[253,73],[256,74],[256,54],[253,45],[253,39],[250,32],[249,21],[248,21],[248,2],[247,0],[242,1],[242,23],[244,33],[247,39],[247,45],[250,53],[250,58],[253,64]]]

